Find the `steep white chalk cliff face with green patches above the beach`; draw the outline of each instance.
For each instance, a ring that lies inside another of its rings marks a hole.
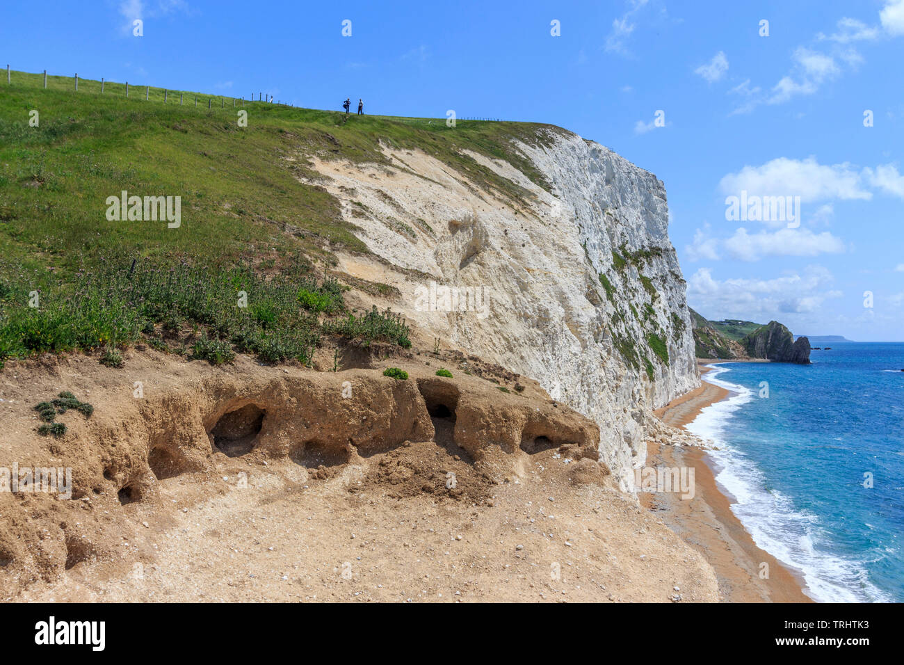
[[[531,376],[596,420],[600,459],[629,489],[650,411],[699,384],[665,190],[606,147],[541,131],[537,145],[517,148],[552,195],[508,162],[467,153],[532,200],[487,192],[419,152],[387,150],[389,168],[315,167],[368,247],[407,269],[341,256],[344,270],[397,286],[393,309],[416,327]],[[468,288],[471,299],[448,311],[441,287]]]

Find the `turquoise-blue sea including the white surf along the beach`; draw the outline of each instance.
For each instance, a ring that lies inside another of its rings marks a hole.
[[[904,343],[830,344],[813,364],[726,363],[688,426],[758,546],[817,601],[904,602]]]

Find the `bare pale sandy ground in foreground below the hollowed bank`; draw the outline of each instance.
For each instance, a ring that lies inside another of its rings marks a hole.
[[[131,504],[148,526],[119,544],[121,558],[76,565],[17,600],[668,602],[675,586],[683,602],[716,599],[703,557],[658,516],[615,489],[574,485],[573,462],[554,454],[533,456],[521,480],[493,486],[480,503],[394,499],[410,484],[369,484],[387,459],[451,463],[432,442],[325,480],[251,470],[245,488],[238,466],[223,461],[219,492],[187,477],[164,481],[175,510]]]

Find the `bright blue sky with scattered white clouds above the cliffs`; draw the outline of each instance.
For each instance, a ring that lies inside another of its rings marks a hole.
[[[0,44],[17,70],[560,125],[664,181],[704,316],[904,339],[904,0],[14,3]],[[727,220],[742,191],[800,196],[799,225]]]

